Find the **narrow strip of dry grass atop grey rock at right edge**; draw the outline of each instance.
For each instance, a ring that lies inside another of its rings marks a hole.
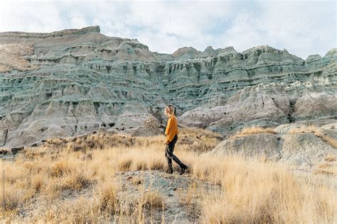
[[[321,138],[323,142],[328,143],[328,145],[331,145],[331,147],[337,148],[337,140],[331,138],[329,135],[324,133],[324,130],[315,125],[301,125],[298,128],[291,128],[291,130],[289,130],[288,133],[289,134],[314,133],[314,135]]]

